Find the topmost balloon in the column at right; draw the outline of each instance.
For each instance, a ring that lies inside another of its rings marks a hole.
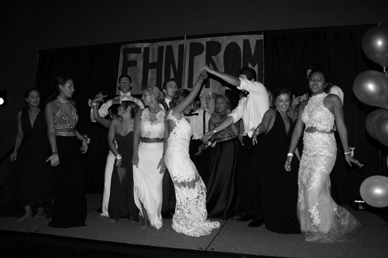
[[[373,62],[388,66],[388,26],[379,25],[369,29],[362,38],[362,50]]]

